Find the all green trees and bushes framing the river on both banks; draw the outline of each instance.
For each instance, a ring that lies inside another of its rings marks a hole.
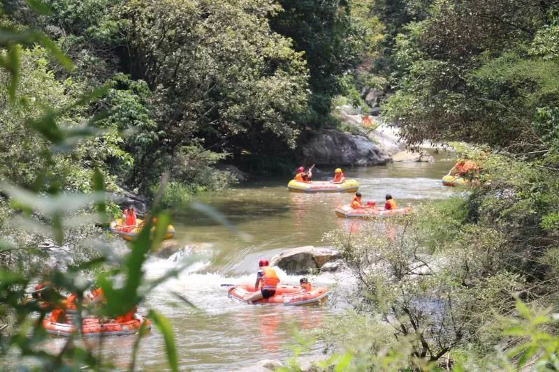
[[[360,289],[321,335],[344,352],[338,369],[559,368],[555,1],[1,5],[0,319],[15,325],[2,356],[105,367],[71,340],[59,355],[34,348],[45,334],[29,314],[45,309],[18,299],[38,278],[82,293],[96,276],[110,316],[157,285],[142,266],[169,216],[113,255],[93,223],[114,208],[105,191],[154,197],[157,213],[233,181],[220,162],[287,170],[307,133],[335,125],[335,98],[363,105],[379,89],[390,94],[383,119],[407,144],[470,142],[458,150],[481,177],[413,218],[328,235]],[[64,265],[42,270],[45,244]],[[168,323],[150,315],[177,369]]]

